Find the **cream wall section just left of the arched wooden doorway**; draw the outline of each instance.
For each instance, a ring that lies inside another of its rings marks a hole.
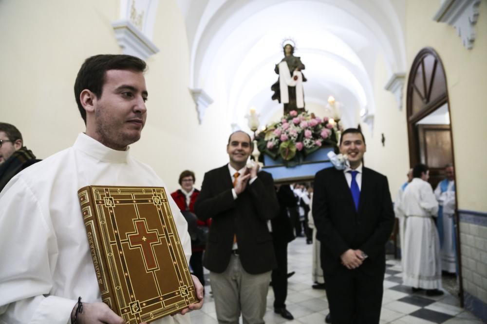
[[[367,144],[365,166],[387,176],[391,197],[395,200],[397,190],[407,180],[409,151],[405,108],[399,110],[393,93],[384,89],[389,78],[384,57],[378,56],[373,85],[374,128],[371,130],[365,123],[361,123],[361,128]],[[381,134],[384,134],[386,139],[384,146]]]

